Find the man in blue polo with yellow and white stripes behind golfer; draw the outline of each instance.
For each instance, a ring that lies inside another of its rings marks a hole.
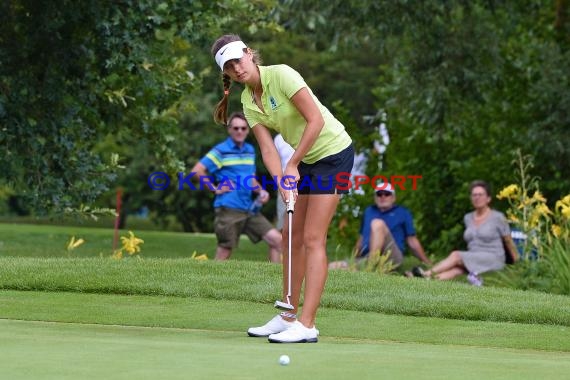
[[[228,120],[229,137],[210,150],[194,167],[194,178],[214,176],[217,188],[214,190],[215,219],[214,229],[218,246],[216,260],[226,260],[238,246],[239,237],[245,233],[257,243],[264,240],[269,245],[269,261],[281,262],[281,233],[258,210],[253,210],[252,191],[259,200],[266,203],[269,193],[253,183],[238,183],[247,176],[255,175],[255,150],[245,139],[249,126],[241,112],[230,115]],[[246,186],[247,185],[247,186]]]

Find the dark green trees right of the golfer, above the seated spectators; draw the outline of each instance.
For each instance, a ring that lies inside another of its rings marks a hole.
[[[378,114],[387,114],[391,144],[381,170],[423,176],[419,191],[401,200],[429,251],[444,256],[463,244],[468,184],[480,178],[504,185],[517,148],[537,157],[549,196],[570,185],[562,175],[570,162],[563,2],[281,4],[277,15],[286,27],[309,36],[317,50],[330,54],[349,45],[381,57],[378,79],[361,84],[375,95]],[[367,146],[373,134],[353,136]]]

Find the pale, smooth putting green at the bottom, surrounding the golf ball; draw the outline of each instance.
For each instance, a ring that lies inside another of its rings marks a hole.
[[[348,338],[280,345],[243,332],[0,320],[5,379],[557,379],[570,354]],[[291,357],[280,366],[281,354]]]

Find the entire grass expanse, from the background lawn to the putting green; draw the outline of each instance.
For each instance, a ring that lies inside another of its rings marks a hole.
[[[213,236],[135,233],[142,258],[116,261],[112,231],[0,225],[0,378],[520,380],[570,371],[569,297],[333,271],[319,343],[269,344],[245,334],[275,315],[280,297],[281,267],[264,262],[264,246],[243,240],[240,249],[263,252],[197,261],[188,257],[213,249]],[[72,235],[87,243],[68,253]]]

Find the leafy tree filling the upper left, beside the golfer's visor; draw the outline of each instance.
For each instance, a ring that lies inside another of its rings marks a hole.
[[[117,169],[111,153],[129,165],[130,146],[182,169],[171,144],[182,115],[196,111],[190,95],[213,66],[209,44],[236,20],[269,27],[271,4],[2,3],[0,184],[29,209],[57,211],[107,190]]]

